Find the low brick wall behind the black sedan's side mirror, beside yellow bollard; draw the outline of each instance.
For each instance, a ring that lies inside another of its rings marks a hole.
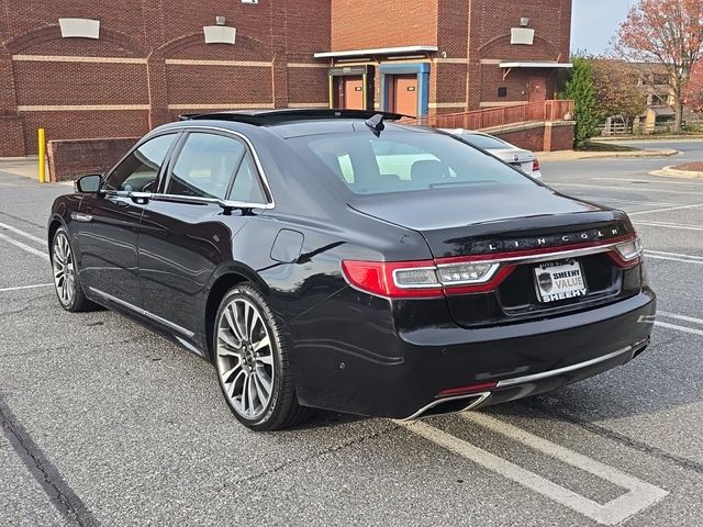
[[[68,181],[88,173],[104,173],[137,141],[137,137],[49,141],[49,180]]]

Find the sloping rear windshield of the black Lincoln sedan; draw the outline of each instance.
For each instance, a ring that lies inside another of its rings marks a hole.
[[[393,132],[376,137],[358,132],[290,141],[355,194],[535,184],[492,156],[443,134]]]

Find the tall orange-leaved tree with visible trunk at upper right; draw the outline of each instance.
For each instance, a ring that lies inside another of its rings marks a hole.
[[[674,132],[681,131],[683,94],[703,58],[703,0],[639,0],[621,24],[615,51],[629,61],[661,64],[674,100]]]

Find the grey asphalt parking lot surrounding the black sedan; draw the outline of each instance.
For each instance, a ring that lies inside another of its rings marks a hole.
[[[654,146],[638,143],[640,146]],[[212,368],[110,312],[64,312],[56,195],[0,164],[0,525],[694,526],[703,503],[703,159],[543,162],[631,213],[659,295],[650,348],[588,381],[415,424],[320,413],[246,430]]]

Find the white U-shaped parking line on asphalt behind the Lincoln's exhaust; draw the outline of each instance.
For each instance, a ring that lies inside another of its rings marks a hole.
[[[468,441],[459,439],[446,431],[429,426],[426,423],[400,423],[408,430],[450,450],[475,463],[507,478],[527,489],[537,492],[549,500],[569,507],[602,525],[617,525],[631,516],[654,505],[667,496],[668,492],[646,483],[637,478],[609,467],[600,461],[556,445],[547,439],[535,436],[494,417],[480,413],[460,414],[462,418],[484,428],[502,434],[534,450],[538,450],[563,463],[590,472],[603,480],[610,481],[628,492],[615,500],[600,504],[566,489],[542,475],[535,474],[511,461],[488,452]]]

